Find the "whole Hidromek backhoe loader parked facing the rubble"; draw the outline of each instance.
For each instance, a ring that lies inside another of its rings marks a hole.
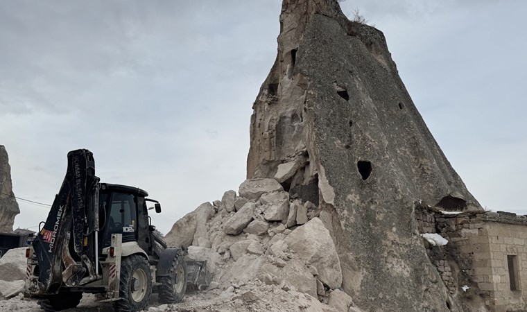
[[[161,205],[146,191],[99,182],[89,150],[69,152],[62,187],[26,250],[25,295],[39,297],[45,311],[74,308],[83,293],[114,302],[116,311],[141,311],[153,292],[175,303],[187,284],[207,286],[206,261],[187,261],[186,248],[168,248],[150,209],[159,213]]]

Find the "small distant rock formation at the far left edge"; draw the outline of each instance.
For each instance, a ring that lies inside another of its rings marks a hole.
[[[8,153],[0,145],[0,232],[11,232],[15,216],[20,213],[17,200],[12,193],[11,167]]]

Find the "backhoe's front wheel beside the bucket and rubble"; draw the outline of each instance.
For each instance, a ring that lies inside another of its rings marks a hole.
[[[162,303],[177,303],[183,300],[187,291],[187,262],[183,257],[175,257],[169,270],[169,275],[159,282],[159,301]]]

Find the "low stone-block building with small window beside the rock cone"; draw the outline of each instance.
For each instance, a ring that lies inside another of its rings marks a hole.
[[[449,241],[435,248],[424,240],[452,296],[481,297],[490,311],[526,311],[527,216],[421,207],[415,219],[420,233]]]

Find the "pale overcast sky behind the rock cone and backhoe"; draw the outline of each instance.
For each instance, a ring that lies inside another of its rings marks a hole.
[[[444,154],[483,207],[527,214],[527,1],[347,0],[386,35]],[[279,0],[0,1],[0,144],[13,191],[53,202],[67,152],[162,202],[166,233],[245,180]],[[19,201],[15,227],[48,209]]]

